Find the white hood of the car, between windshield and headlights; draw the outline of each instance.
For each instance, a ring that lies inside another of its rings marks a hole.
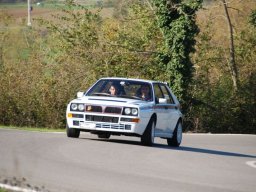
[[[142,100],[127,99],[120,97],[101,97],[101,96],[85,96],[72,100],[70,103],[85,103],[94,105],[111,105],[111,106],[145,106],[152,105],[152,102]]]

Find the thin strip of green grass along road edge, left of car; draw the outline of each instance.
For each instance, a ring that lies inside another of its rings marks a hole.
[[[65,131],[65,129],[60,129],[60,128],[53,129],[53,128],[42,128],[42,127],[18,127],[18,126],[11,126],[11,125],[10,126],[0,125],[0,129],[36,131],[36,132],[64,132]]]

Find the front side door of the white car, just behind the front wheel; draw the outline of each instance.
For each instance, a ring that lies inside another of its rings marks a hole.
[[[160,98],[164,98],[164,94],[160,88],[159,83],[154,83],[154,94],[155,94],[155,112],[157,113],[157,122],[155,127],[156,134],[163,133],[168,128],[168,109],[166,104],[159,103]]]

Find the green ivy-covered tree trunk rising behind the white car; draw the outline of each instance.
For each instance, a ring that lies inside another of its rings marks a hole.
[[[165,79],[181,101],[189,98],[188,87],[192,79],[193,64],[190,54],[195,51],[196,11],[202,0],[153,0],[158,24],[165,44],[157,55],[166,69]]]

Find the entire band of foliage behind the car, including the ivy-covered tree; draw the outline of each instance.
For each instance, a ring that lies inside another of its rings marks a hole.
[[[223,9],[213,1],[195,17],[199,1],[149,2],[121,0],[114,4],[118,14],[102,17],[101,9],[68,1],[33,28],[1,12],[0,124],[64,128],[67,103],[100,77],[175,77],[170,84],[183,100],[186,131],[256,133],[254,0],[229,4],[237,93]]]

